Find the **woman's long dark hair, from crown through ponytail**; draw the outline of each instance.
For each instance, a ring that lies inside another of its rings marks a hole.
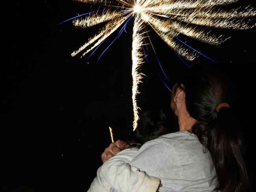
[[[225,71],[217,64],[195,64],[179,81],[178,87],[185,92],[189,115],[197,120],[192,132],[211,153],[219,181],[217,189],[248,192],[250,182],[243,160],[243,134],[231,111],[237,93],[234,82],[228,78],[230,74]],[[222,107],[217,112],[220,103],[228,103],[230,108]]]

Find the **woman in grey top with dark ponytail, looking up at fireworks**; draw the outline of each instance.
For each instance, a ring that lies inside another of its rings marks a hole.
[[[171,108],[180,131],[146,142],[130,163],[158,177],[163,185],[159,191],[249,191],[241,129],[229,107],[235,96],[233,82],[219,67],[198,64],[189,68],[172,95]],[[102,154],[103,162],[122,145],[121,141],[110,145]],[[124,178],[127,185],[133,181],[127,175]]]

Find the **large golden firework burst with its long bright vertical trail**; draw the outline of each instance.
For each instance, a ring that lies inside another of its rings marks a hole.
[[[73,21],[75,26],[78,28],[87,28],[100,23],[104,23],[105,26],[101,28],[97,34],[90,37],[78,50],[74,51],[71,54],[72,56],[80,52],[83,52],[82,56],[84,56],[91,50],[97,49],[110,34],[123,25],[118,34],[118,37],[120,37],[123,30],[125,30],[125,26],[130,21],[131,17],[134,16],[132,43],[133,130],[136,129],[139,118],[136,94],[139,93],[138,84],[141,82],[143,75],[140,73],[140,66],[144,58],[141,49],[146,38],[144,34],[148,32],[146,30],[147,25],[151,26],[172,50],[189,61],[203,54],[178,39],[177,36],[179,34],[186,35],[210,45],[220,45],[228,38],[224,37],[224,35],[217,36],[212,34],[209,27],[244,30],[255,26],[255,24],[250,21],[250,17],[256,16],[254,8],[248,6],[244,9],[241,7],[231,10],[222,9],[222,6],[232,4],[238,0],[75,1],[99,5],[100,7],[104,6],[104,9],[92,11],[89,15],[86,15],[84,19],[75,18]]]

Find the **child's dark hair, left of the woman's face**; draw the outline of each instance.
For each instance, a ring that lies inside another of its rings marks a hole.
[[[137,128],[128,136],[128,143],[144,144],[161,135],[179,131],[178,117],[170,107],[153,107],[142,113]]]

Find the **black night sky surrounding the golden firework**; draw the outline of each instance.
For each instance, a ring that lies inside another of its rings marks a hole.
[[[243,0],[243,4],[252,1]],[[133,129],[133,20],[126,27],[127,33],[97,62],[119,30],[89,59],[72,58],[71,52],[100,26],[78,29],[72,21],[58,25],[90,12],[90,5],[72,0],[12,1],[4,2],[2,9],[0,191],[84,192],[102,164],[101,153],[111,142],[108,126],[113,129],[114,140],[125,139]],[[184,35],[179,38],[222,63],[233,75],[238,100],[232,108],[243,125],[245,159],[254,179],[256,28],[213,32],[226,34],[230,39],[216,47]],[[148,47],[149,63],[141,68],[146,76],[138,95],[142,110],[169,105],[171,93],[161,78],[172,88],[175,79],[187,68],[153,31],[149,34],[171,82],[164,79],[155,54]],[[213,63],[202,56],[194,62]]]

